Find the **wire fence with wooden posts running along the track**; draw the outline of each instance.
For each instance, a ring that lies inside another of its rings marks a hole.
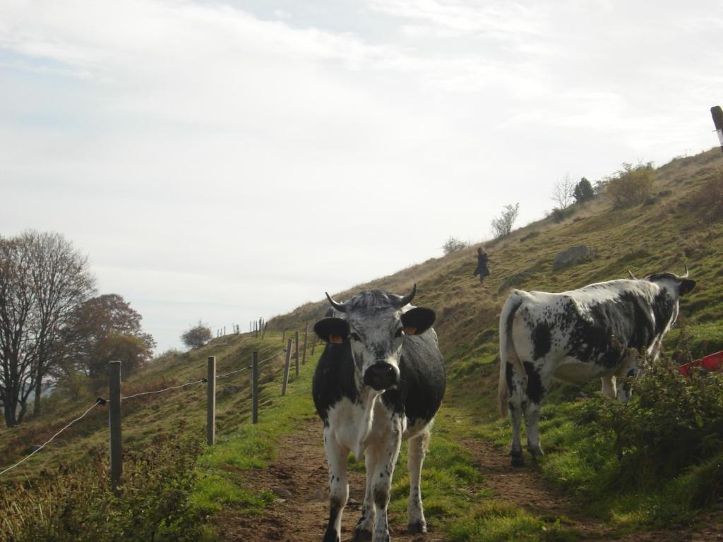
[[[257,328],[257,330],[263,329],[263,331],[265,332],[266,326],[263,326],[263,327],[262,327],[262,324],[263,324],[263,323],[264,323],[264,322],[262,322],[262,321],[259,322],[259,327]],[[304,332],[304,359],[306,358],[306,342],[307,342],[306,339],[307,339],[307,337],[306,337],[306,332]],[[298,359],[298,358],[299,358],[299,355],[298,355],[298,352],[299,352],[298,332],[297,332],[297,341],[296,341],[296,342],[297,342],[297,344],[296,344],[296,365],[297,365],[297,368],[298,368],[298,364],[299,364],[299,359]],[[258,382],[257,382],[257,381],[258,381],[258,369],[260,369],[260,367],[265,366],[266,364],[268,364],[268,362],[272,361],[274,358],[277,358],[278,356],[281,356],[281,354],[286,353],[286,366],[285,366],[285,370],[284,370],[284,382],[283,382],[283,389],[282,389],[282,392],[281,392],[281,395],[282,395],[282,396],[283,396],[283,395],[286,395],[286,384],[288,383],[289,363],[290,363],[290,359],[291,359],[291,348],[289,348],[290,346],[291,346],[291,339],[288,340],[288,346],[287,346],[287,348],[282,348],[281,350],[278,350],[276,353],[273,353],[271,356],[268,356],[268,358],[264,358],[264,359],[262,359],[262,360],[260,360],[260,361],[257,361],[257,352],[254,351],[254,353],[253,353],[253,354],[254,354],[254,356],[253,356],[253,360],[254,360],[254,361],[252,362],[252,365],[244,366],[244,367],[241,367],[240,369],[234,369],[233,371],[228,371],[228,372],[226,372],[226,373],[219,374],[219,375],[216,375],[216,374],[215,374],[215,358],[214,358],[214,357],[208,358],[208,362],[205,363],[205,364],[203,364],[203,365],[204,365],[204,366],[207,366],[207,365],[208,365],[208,367],[210,368],[210,366],[212,365],[212,361],[213,361],[213,382],[210,382],[210,379],[209,379],[209,378],[201,378],[201,379],[198,379],[198,380],[194,380],[194,381],[192,381],[192,382],[186,382],[185,384],[179,384],[179,385],[176,385],[176,386],[168,386],[168,387],[165,387],[165,388],[163,388],[163,389],[161,389],[161,390],[155,390],[155,391],[150,391],[150,392],[138,392],[138,393],[134,393],[134,394],[132,394],[132,395],[125,395],[125,396],[120,396],[120,395],[118,394],[118,395],[119,395],[119,397],[118,397],[118,413],[120,413],[120,403],[121,403],[122,401],[124,401],[124,400],[133,399],[133,398],[135,398],[135,397],[141,397],[142,395],[158,395],[158,394],[161,394],[161,393],[169,392],[169,391],[171,391],[171,390],[181,390],[181,389],[187,388],[187,387],[189,387],[189,386],[193,386],[194,384],[202,384],[202,383],[203,383],[203,384],[208,384],[209,397],[210,397],[211,395],[214,395],[214,396],[215,396],[215,382],[216,382],[217,380],[219,380],[219,379],[225,379],[225,378],[227,378],[227,377],[230,377],[232,374],[239,374],[239,373],[241,373],[241,372],[243,372],[243,371],[252,370],[252,376],[253,376],[253,381],[254,381],[254,382],[252,382],[252,402],[253,402],[253,408],[252,408],[252,410],[253,410],[253,413],[252,413],[252,423],[257,423],[257,398],[258,398]],[[112,365],[112,364],[119,364],[119,362],[111,362],[111,365]],[[111,372],[112,372],[112,371],[111,371]],[[117,372],[118,372],[118,375],[120,375],[120,371],[117,371]],[[210,369],[209,369],[209,374],[212,374],[211,371],[210,371]],[[297,369],[297,371],[296,371],[296,374],[297,374],[297,375],[299,374],[299,373],[298,373],[298,369]],[[113,399],[113,395],[114,395],[114,394],[113,394],[113,387],[114,387],[114,386],[113,386],[113,382],[109,382],[109,384],[110,384],[110,387],[111,387],[111,400],[112,400],[112,399]],[[118,377],[117,385],[118,385],[118,387],[120,387],[120,376]],[[69,427],[72,426],[74,423],[76,423],[77,421],[82,420],[82,418],[85,418],[85,416],[87,416],[87,414],[90,413],[90,411],[93,410],[95,407],[97,407],[98,405],[101,405],[101,406],[102,406],[102,405],[106,405],[106,403],[108,403],[108,402],[111,401],[111,400],[106,400],[106,399],[104,399],[103,397],[98,397],[98,398],[95,400],[95,403],[93,403],[93,405],[90,405],[90,408],[87,408],[87,410],[85,410],[85,412],[82,413],[82,414],[81,414],[80,416],[78,416],[77,418],[74,418],[74,419],[72,419],[71,421],[69,421],[62,429],[60,429],[59,431],[56,431],[56,433],[55,433],[53,436],[51,436],[50,439],[48,439],[48,440],[47,440],[46,442],[44,442],[42,445],[40,445],[40,446],[38,446],[37,448],[35,448],[35,449],[33,450],[33,452],[31,452],[30,454],[28,454],[28,455],[26,455],[25,457],[23,457],[23,458],[22,458],[20,461],[18,461],[17,463],[14,463],[13,465],[10,465],[9,467],[5,468],[4,470],[0,470],[0,476],[3,476],[5,473],[7,473],[7,472],[9,472],[10,470],[16,468],[18,465],[21,465],[22,463],[25,463],[25,461],[27,461],[27,460],[30,459],[30,457],[33,457],[35,454],[37,454],[38,452],[40,452],[41,449],[45,448],[48,444],[50,444],[51,442],[53,442],[53,440],[56,439],[56,437],[59,436],[61,433],[63,433],[63,431],[66,431],[66,430],[69,429]],[[213,401],[213,418],[210,416],[210,408],[211,408],[210,405],[211,405],[211,403],[212,403],[212,402],[211,402],[210,399],[209,399],[209,403],[208,403],[209,418],[208,418],[208,421],[207,421],[207,425],[208,425],[208,424],[213,424],[213,423],[215,423],[215,400]],[[114,456],[114,453],[113,453],[113,450],[114,450],[114,442],[113,442],[114,436],[113,436],[113,431],[112,431],[112,427],[113,427],[113,425],[114,425],[114,420],[113,420],[113,416],[114,416],[114,415],[113,415],[113,411],[114,411],[114,409],[112,408],[112,405],[111,405],[111,410],[110,410],[110,416],[111,416],[111,463],[113,463],[113,460],[114,460],[114,457],[113,457],[113,456]],[[117,423],[120,423],[120,420],[119,420],[119,419],[118,419]],[[207,429],[208,429],[208,428],[207,428]],[[213,434],[213,431],[210,431],[210,432],[211,432],[211,434]],[[210,439],[210,442],[208,442],[208,444],[213,444],[213,439]],[[113,470],[114,470],[114,468],[112,468],[112,466],[111,466],[111,472],[112,472]],[[115,489],[115,486],[116,486],[116,483],[117,483],[117,482],[118,482],[118,480],[113,480],[113,479],[112,479],[112,475],[111,475],[111,486],[114,486],[114,489]]]

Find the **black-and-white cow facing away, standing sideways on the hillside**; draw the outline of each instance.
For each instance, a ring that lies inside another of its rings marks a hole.
[[[630,273],[632,277],[632,273]],[[657,273],[637,280],[610,280],[562,293],[515,290],[500,315],[502,417],[512,418],[512,464],[523,465],[520,424],[525,418],[527,448],[542,455],[537,422],[553,379],[583,384],[602,379],[602,391],[630,399],[640,356],[654,360],[665,333],[675,323],[678,298],[696,285],[685,275]]]

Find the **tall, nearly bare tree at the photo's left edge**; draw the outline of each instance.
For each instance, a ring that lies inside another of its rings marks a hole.
[[[59,233],[0,237],[0,405],[8,427],[25,417],[31,392],[40,412],[61,330],[94,283],[87,258]]]

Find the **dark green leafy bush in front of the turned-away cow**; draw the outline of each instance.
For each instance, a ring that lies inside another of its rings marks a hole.
[[[567,412],[556,423],[571,429],[568,451],[553,454],[549,468],[591,501],[645,495],[644,514],[673,524],[723,498],[723,374],[684,377],[659,358],[627,405],[597,396],[550,408]]]

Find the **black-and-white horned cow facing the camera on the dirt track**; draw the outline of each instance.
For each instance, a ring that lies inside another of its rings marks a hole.
[[[341,540],[348,497],[346,459],[364,455],[367,491],[354,540],[389,540],[387,504],[394,465],[409,440],[408,530],[424,533],[419,478],[429,430],[445,392],[445,367],[432,329],[435,312],[405,297],[362,291],[330,304],[343,318],[326,317],[314,331],[328,344],[317,365],[313,395],[324,422],[329,463],[329,524],[325,542]]]

